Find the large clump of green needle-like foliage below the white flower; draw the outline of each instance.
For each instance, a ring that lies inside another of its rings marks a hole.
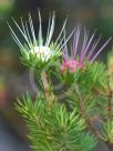
[[[96,141],[84,132],[85,122],[76,108],[69,112],[64,104],[54,102],[50,109],[42,94],[34,102],[27,94],[16,108],[27,123],[35,151],[93,151]]]

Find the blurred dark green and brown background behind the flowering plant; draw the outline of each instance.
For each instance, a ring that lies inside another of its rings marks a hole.
[[[28,19],[31,12],[35,31],[38,30],[38,11],[43,19],[43,31],[47,31],[49,12],[56,13],[55,32],[69,17],[68,31],[80,22],[90,32],[97,29],[96,36],[103,34],[102,41],[113,36],[113,0],[0,0],[0,151],[29,151],[25,138],[25,125],[14,110],[13,102],[27,91],[35,95],[29,71],[19,61],[19,48],[10,36],[7,21],[13,28],[11,18],[20,22],[20,17]],[[17,32],[18,33],[18,32]],[[103,51],[100,59],[106,60],[112,42]],[[99,151],[106,151],[100,143]]]

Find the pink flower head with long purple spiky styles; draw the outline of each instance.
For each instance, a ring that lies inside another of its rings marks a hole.
[[[106,47],[111,38],[97,50],[99,42],[101,37],[97,40],[94,40],[94,33],[89,38],[89,33],[85,28],[83,31],[83,36],[81,34],[81,27],[78,26],[74,38],[73,46],[71,49],[71,57],[69,56],[68,47],[65,44],[63,51],[63,63],[61,64],[61,71],[64,72],[69,69],[69,71],[74,72],[75,69],[84,70],[85,63],[92,63],[96,57],[101,53],[101,51]],[[82,37],[82,38],[81,38]],[[82,43],[82,44],[81,44]],[[79,52],[80,51],[80,52]],[[95,52],[96,51],[96,52]],[[80,54],[78,54],[78,52]]]

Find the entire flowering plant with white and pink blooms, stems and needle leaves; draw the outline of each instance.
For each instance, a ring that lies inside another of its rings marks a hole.
[[[99,140],[113,151],[113,54],[107,64],[95,61],[111,38],[101,46],[101,37],[90,36],[76,26],[66,38],[65,24],[53,40],[55,14],[49,18],[45,40],[39,11],[39,33],[33,21],[13,20],[24,42],[13,29],[11,34],[21,50],[21,61],[33,69],[40,91],[33,100],[29,94],[18,100],[16,109],[23,117],[35,151],[93,151]],[[69,39],[73,37],[71,49]],[[101,46],[101,47],[100,47]],[[60,90],[55,90],[60,83]],[[96,127],[100,124],[101,129]]]

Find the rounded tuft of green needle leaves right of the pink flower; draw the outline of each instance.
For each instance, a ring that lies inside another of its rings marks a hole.
[[[101,62],[88,64],[80,74],[78,84],[84,94],[91,92],[94,87],[103,89],[106,84],[105,66]]]

